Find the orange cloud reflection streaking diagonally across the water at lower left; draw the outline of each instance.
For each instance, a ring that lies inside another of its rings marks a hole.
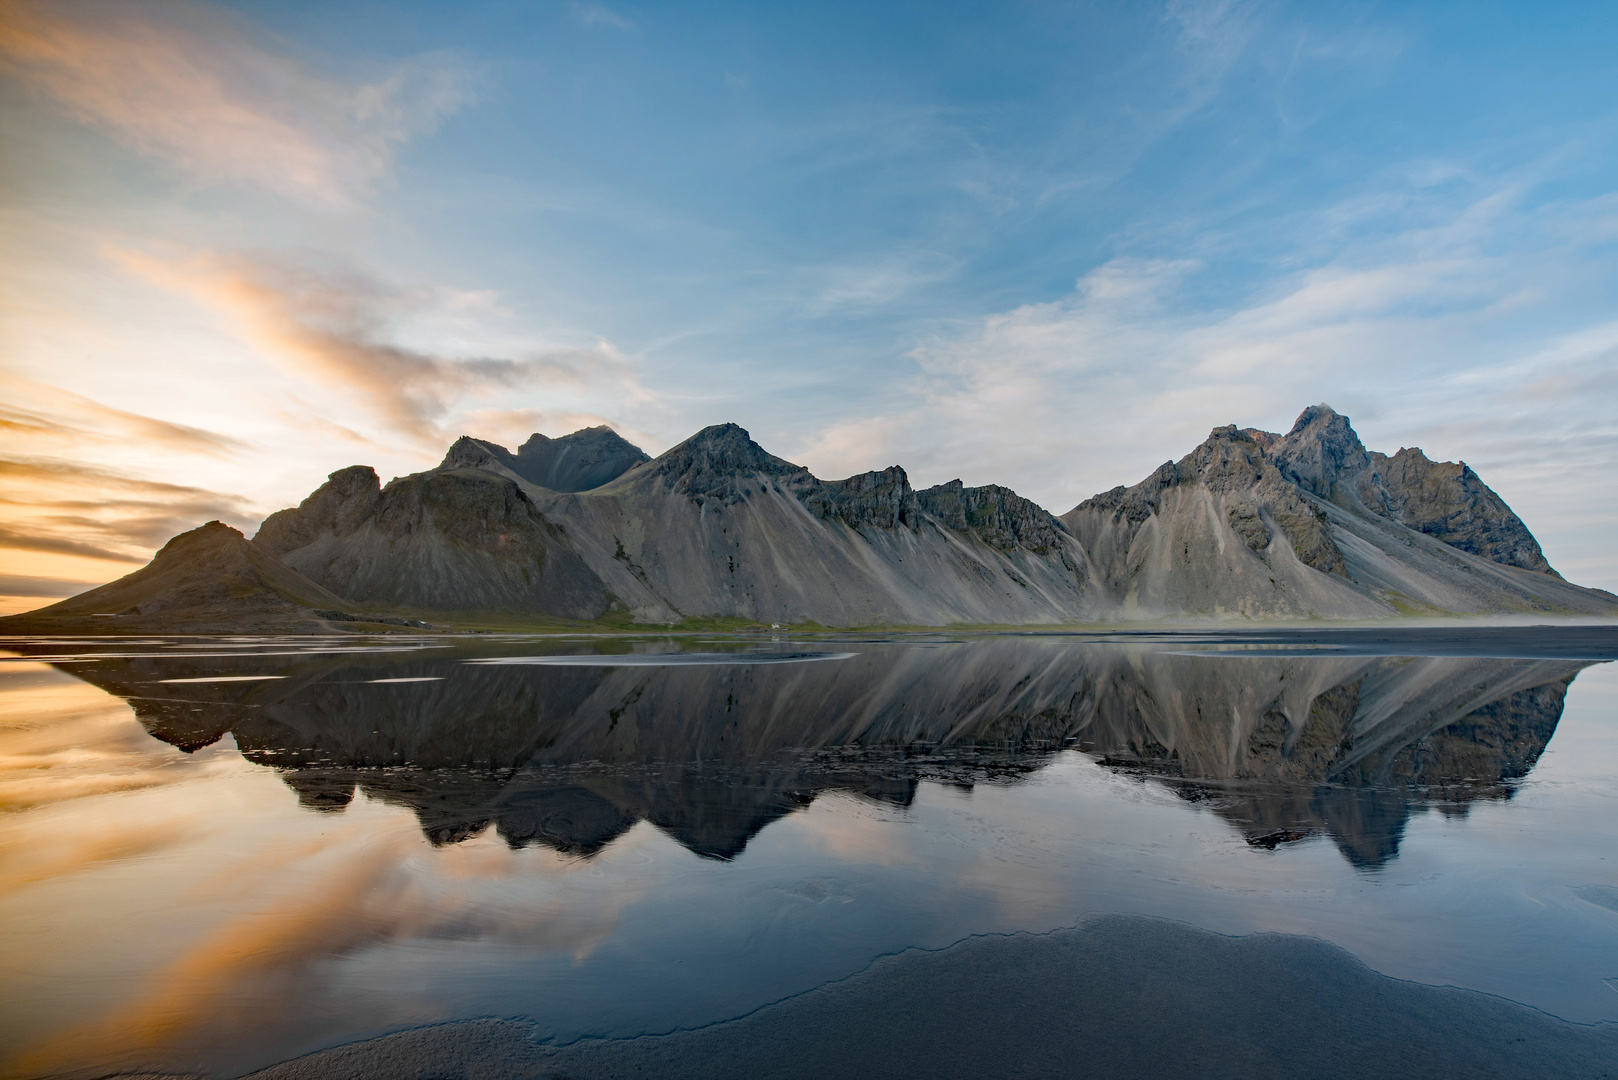
[[[220,1038],[294,1028],[307,1023],[306,1014],[277,1006],[324,993],[311,986],[311,968],[379,942],[479,939],[582,957],[642,895],[633,887],[604,895],[586,886],[571,895],[563,889],[519,902],[493,899],[476,889],[477,881],[532,873],[536,860],[524,858],[531,853],[451,848],[417,865],[416,829],[383,829],[356,826],[346,836],[293,844],[227,870],[210,882],[227,892],[244,884],[264,889],[267,876],[290,870],[304,886],[199,934],[141,993],[100,1018],[42,1040],[10,1067],[19,1075],[107,1069],[159,1056],[199,1030]],[[566,866],[547,870],[550,882],[566,874]],[[256,993],[244,994],[248,986]]]

